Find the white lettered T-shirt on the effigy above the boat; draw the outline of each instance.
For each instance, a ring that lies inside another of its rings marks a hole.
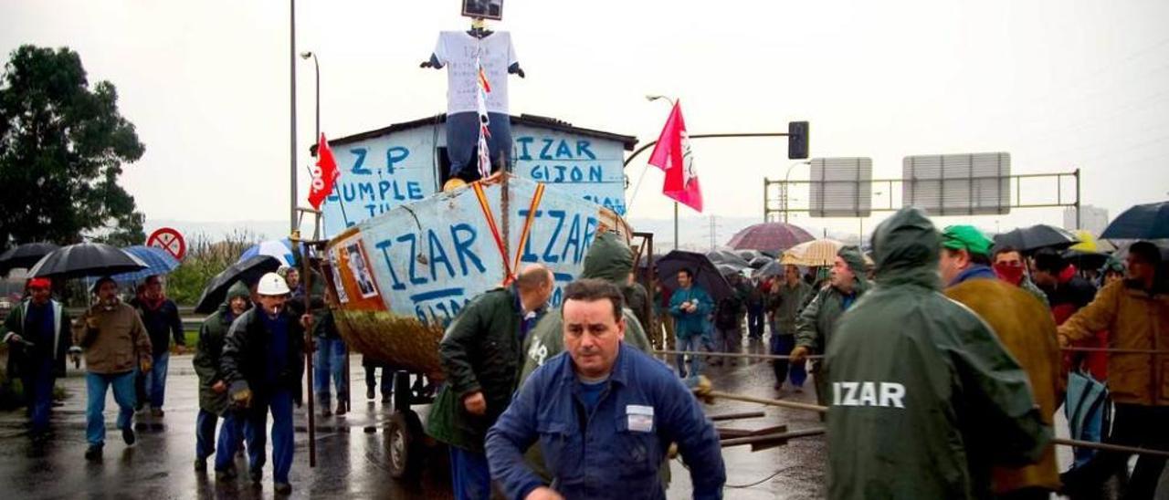
[[[487,112],[507,113],[507,67],[518,62],[511,33],[494,32],[480,40],[466,32],[440,32],[434,54],[447,67],[447,114],[478,111],[475,57],[480,50],[483,70],[491,85]]]

